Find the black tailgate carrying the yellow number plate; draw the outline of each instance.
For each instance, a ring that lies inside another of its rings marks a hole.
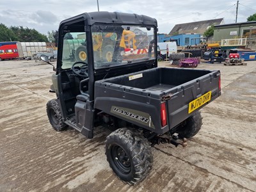
[[[165,94],[169,129],[220,96],[219,83],[220,71],[214,71]]]

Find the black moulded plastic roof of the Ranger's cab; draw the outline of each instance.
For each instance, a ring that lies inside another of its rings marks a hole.
[[[127,24],[127,25],[150,25],[157,27],[157,20],[146,15],[137,15],[135,13],[120,12],[90,12],[82,13],[70,19],[63,20],[60,26],[67,23],[76,22],[77,20],[86,20],[88,25],[95,23],[104,24]]]

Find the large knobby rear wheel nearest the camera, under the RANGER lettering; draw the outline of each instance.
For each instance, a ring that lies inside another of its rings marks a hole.
[[[150,143],[135,130],[121,128],[106,138],[106,156],[113,172],[128,184],[136,184],[150,172],[153,155]]]

